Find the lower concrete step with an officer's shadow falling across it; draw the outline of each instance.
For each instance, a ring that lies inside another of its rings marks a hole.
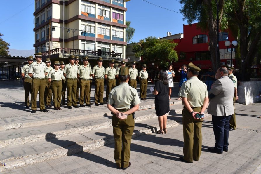
[[[181,104],[170,106],[167,127],[177,126],[182,121],[181,112]],[[208,114],[205,116],[208,116]],[[26,135],[22,132],[19,138],[9,138],[8,140],[13,141],[13,143],[9,142],[9,145],[1,148],[0,163],[4,164],[4,166],[0,167],[0,171],[56,159],[61,156],[88,151],[114,143],[111,115],[86,118],[66,124],[73,127],[62,129],[65,124],[60,125],[62,127],[56,127],[53,124],[48,125],[48,128],[41,129],[41,126],[38,126],[39,131],[31,131],[29,133],[28,131],[23,131],[26,132]],[[159,126],[154,108],[136,112],[133,138],[148,133],[155,133],[156,130],[159,130]]]

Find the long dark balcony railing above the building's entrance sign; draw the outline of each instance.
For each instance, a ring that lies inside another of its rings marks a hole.
[[[53,54],[65,53],[65,54],[74,54],[74,55],[95,55],[95,56],[106,56],[106,57],[119,57],[122,58],[122,53],[107,52],[107,51],[93,51],[93,50],[80,50],[72,48],[55,48],[50,51],[43,52],[43,56],[48,56]]]

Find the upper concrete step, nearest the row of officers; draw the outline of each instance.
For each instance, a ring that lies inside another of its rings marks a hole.
[[[182,101],[179,100],[171,100],[170,105],[180,104]],[[142,101],[140,103],[139,110],[154,108],[154,100]],[[53,109],[53,108],[52,108]],[[0,131],[10,130],[10,129],[19,129],[19,128],[27,128],[33,126],[43,126],[53,123],[67,122],[73,120],[80,120],[86,118],[86,114],[88,114],[88,118],[93,118],[100,116],[101,114],[110,114],[109,109],[107,109],[107,105],[104,106],[94,106],[92,107],[84,107],[84,108],[72,108],[67,109],[67,107],[62,107],[61,111],[50,110],[49,112],[39,112],[32,114],[24,113],[16,114],[14,116],[9,116],[0,120]]]

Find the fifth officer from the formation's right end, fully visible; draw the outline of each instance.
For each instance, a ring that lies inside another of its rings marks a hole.
[[[103,103],[103,90],[104,90],[104,75],[105,75],[105,69],[102,66],[102,58],[97,59],[98,65],[95,65],[93,67],[93,79],[95,80],[95,106],[99,106],[98,104],[98,98],[100,100],[100,105],[104,105]]]

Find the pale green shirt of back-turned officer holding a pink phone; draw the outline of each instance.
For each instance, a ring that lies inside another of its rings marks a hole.
[[[112,89],[109,94],[108,104],[114,104],[115,109],[128,110],[131,104],[134,106],[140,104],[140,98],[135,88],[123,82]]]

